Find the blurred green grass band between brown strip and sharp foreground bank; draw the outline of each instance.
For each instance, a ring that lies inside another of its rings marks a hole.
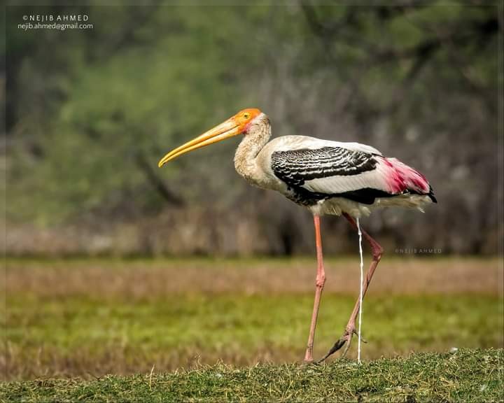
[[[129,300],[9,297],[10,378],[101,376],[191,367],[295,362],[306,343],[312,295],[167,295]],[[316,355],[342,333],[353,297],[327,294]],[[451,347],[502,346],[496,296],[373,296],[365,305],[365,359]],[[351,356],[355,351],[352,351]]]

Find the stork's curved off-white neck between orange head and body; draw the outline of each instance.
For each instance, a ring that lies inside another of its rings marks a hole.
[[[267,115],[261,113],[251,122],[235,153],[235,169],[238,174],[253,185],[261,186],[265,181],[257,156],[271,137],[271,125]]]

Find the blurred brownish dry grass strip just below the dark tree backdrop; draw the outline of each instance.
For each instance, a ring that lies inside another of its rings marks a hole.
[[[369,257],[367,262],[369,262]],[[373,278],[374,294],[475,292],[503,295],[503,265],[498,258],[384,257]],[[9,293],[38,296],[87,295],[137,298],[174,292],[275,294],[312,292],[315,261],[292,260],[8,260]],[[326,260],[324,292],[355,295],[358,260]]]

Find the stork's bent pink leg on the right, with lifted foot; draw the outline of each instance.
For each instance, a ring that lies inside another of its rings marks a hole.
[[[350,215],[348,215],[346,213],[343,213],[343,215],[344,215],[344,218],[346,218],[346,220],[349,220],[351,226],[354,227],[355,229],[357,229],[357,224],[356,224],[355,220],[353,220],[353,218],[351,218]],[[371,262],[369,270],[367,270],[366,278],[365,278],[365,281],[363,284],[363,297],[364,297],[364,295],[367,291],[367,287],[369,286],[369,284],[371,282],[371,278],[374,274],[374,271],[376,270],[378,263],[381,260],[381,255],[383,254],[383,248],[381,248],[380,244],[377,241],[372,239],[370,234],[367,234],[367,232],[365,232],[365,231],[362,231],[362,234],[363,234],[365,240],[368,243],[370,243],[371,253],[372,253],[372,262]],[[346,327],[343,332],[343,336],[340,337],[338,341],[336,341],[335,345],[332,346],[330,351],[320,361],[323,361],[323,360],[325,360],[325,358],[328,358],[331,354],[338,351],[339,348],[342,348],[342,346],[346,342],[348,342],[344,348],[344,351],[342,353],[342,357],[344,357],[344,355],[346,355],[346,352],[350,348],[351,339],[353,337],[353,334],[355,333],[355,323],[356,323],[356,318],[357,318],[359,309],[360,309],[359,300],[357,299],[356,304],[353,306],[353,311],[351,313],[350,319],[349,319],[348,323],[346,323]]]

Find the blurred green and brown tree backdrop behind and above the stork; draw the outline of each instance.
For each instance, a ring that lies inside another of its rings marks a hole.
[[[498,252],[498,2],[22,3],[3,16],[9,255],[312,253],[309,213],[242,181],[237,141],[157,167],[245,107],[274,136],[359,141],[426,174],[425,215],[365,220],[386,249]],[[65,13],[92,28],[18,27]],[[323,225],[327,253],[354,252],[345,222]]]

